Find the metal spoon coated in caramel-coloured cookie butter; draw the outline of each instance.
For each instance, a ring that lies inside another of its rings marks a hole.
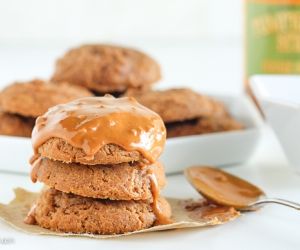
[[[252,211],[272,203],[300,210],[299,203],[268,198],[257,186],[218,168],[189,167],[185,169],[184,174],[203,197],[219,205]]]

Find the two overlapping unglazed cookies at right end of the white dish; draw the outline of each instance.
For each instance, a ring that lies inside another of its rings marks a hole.
[[[191,89],[148,91],[132,96],[161,116],[168,138],[244,128],[222,102]]]

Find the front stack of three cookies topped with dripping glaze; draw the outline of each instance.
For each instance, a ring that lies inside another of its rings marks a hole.
[[[31,178],[46,184],[26,223],[61,232],[120,234],[169,223],[166,130],[135,99],[89,97],[37,119]]]

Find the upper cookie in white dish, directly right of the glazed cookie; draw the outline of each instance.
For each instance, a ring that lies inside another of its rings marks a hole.
[[[227,116],[224,105],[191,89],[168,89],[133,95],[138,102],[158,113],[165,123],[203,116]]]

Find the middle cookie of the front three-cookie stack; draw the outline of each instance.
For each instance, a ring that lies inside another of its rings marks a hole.
[[[141,167],[138,164],[118,165],[65,164],[41,159],[35,164],[31,177],[65,193],[110,200],[151,200],[148,174],[156,176],[158,186],[165,185],[161,164]]]

